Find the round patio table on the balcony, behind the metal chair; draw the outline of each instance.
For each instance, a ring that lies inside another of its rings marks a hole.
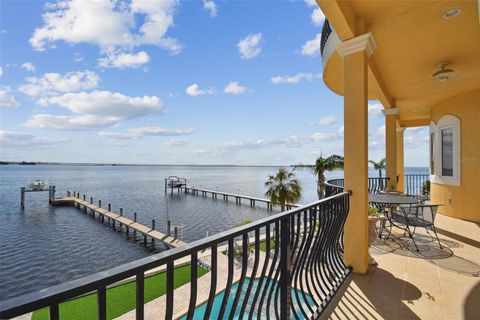
[[[392,231],[392,225],[394,225],[394,222],[392,221],[392,216],[390,214],[391,212],[390,209],[399,205],[418,204],[421,202],[421,200],[417,197],[409,197],[406,195],[380,193],[380,194],[369,194],[368,202],[380,208],[384,212],[385,217],[387,218],[387,221],[390,223],[388,234],[385,237],[385,238],[388,238]],[[385,210],[385,209],[388,209],[388,210]],[[385,225],[386,221],[385,220],[380,221],[379,223],[380,223],[380,226],[379,228],[376,228],[376,230],[377,230],[378,237],[382,238],[383,230],[386,229],[386,225]]]

